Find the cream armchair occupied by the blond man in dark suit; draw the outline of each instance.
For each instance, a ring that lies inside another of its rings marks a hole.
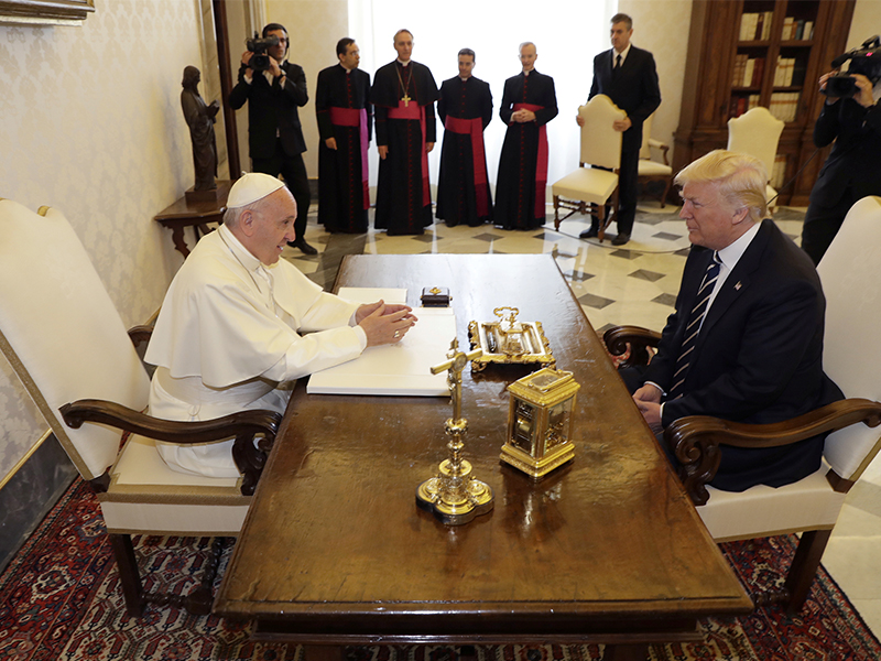
[[[791,613],[807,597],[848,490],[881,448],[881,380],[875,369],[881,369],[881,344],[873,342],[881,324],[879,245],[881,197],[866,197],[850,209],[817,269],[826,295],[823,366],[848,399],[777,424],[690,416],[665,430],[671,449],[688,462],[679,476],[715,540],[802,533],[784,589],[755,599],[784,602]],[[605,339],[613,354],[621,355],[630,344],[632,355],[644,359],[641,347],[656,344],[659,337],[622,326],[607,330]],[[860,422],[866,424],[856,424]],[[797,483],[759,485],[742,492],[707,485],[718,466],[720,444],[770,447],[829,430],[823,466]]]

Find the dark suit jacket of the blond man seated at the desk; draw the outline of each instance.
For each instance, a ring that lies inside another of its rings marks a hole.
[[[645,372],[644,380],[664,391],[673,383],[688,311],[711,258],[711,250],[692,248],[676,312]],[[781,422],[841,399],[823,371],[825,310],[811,259],[772,220],[763,220],[707,312],[685,394],[665,402],[664,426],[685,415]],[[719,473],[710,484],[740,491],[796,481],[819,468],[823,438],[765,449],[722,446]]]

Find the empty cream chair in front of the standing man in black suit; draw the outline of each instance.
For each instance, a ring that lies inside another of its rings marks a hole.
[[[586,106],[578,107],[584,120],[578,170],[556,182],[554,195],[554,228],[559,229],[575,212],[596,214],[599,218],[599,240],[602,241],[611,218],[606,217],[606,204],[611,201],[612,213],[618,213],[618,170],[621,165],[621,133],[612,128],[616,120],[627,113],[606,95],[597,95]],[[589,167],[598,165],[599,167]],[[611,171],[611,172],[610,172]],[[570,209],[563,218],[559,209]]]

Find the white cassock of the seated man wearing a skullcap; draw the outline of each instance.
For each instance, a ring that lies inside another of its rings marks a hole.
[[[283,413],[294,380],[367,347],[357,308],[284,259],[262,264],[220,226],[199,240],[165,295],[144,358],[157,366],[150,413],[178,421]],[[175,470],[238,477],[232,442],[157,448]]]

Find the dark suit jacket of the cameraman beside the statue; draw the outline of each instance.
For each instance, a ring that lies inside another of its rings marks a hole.
[[[297,107],[309,100],[306,74],[303,67],[285,61],[281,67],[287,80],[284,89],[275,78],[269,84],[262,72],[254,73],[249,85],[244,80],[243,64],[239,67],[239,82],[229,94],[229,105],[238,110],[248,101],[248,145],[252,159],[271,159],[275,153],[275,136],[281,138],[284,153],[295,156],[306,151]]]

